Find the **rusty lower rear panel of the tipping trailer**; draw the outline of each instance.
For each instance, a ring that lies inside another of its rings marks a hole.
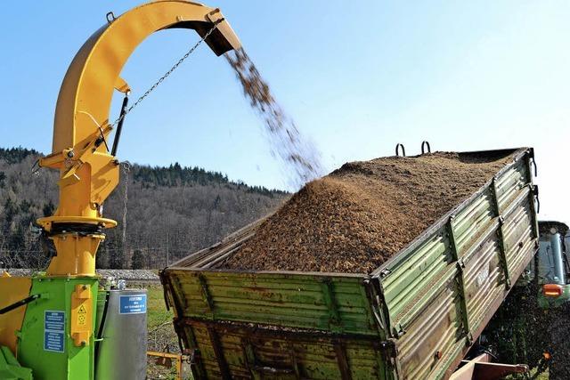
[[[371,336],[279,332],[241,324],[184,319],[200,360],[198,378],[387,378],[386,349]]]

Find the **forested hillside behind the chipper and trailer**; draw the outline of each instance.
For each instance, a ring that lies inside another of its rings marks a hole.
[[[35,221],[53,214],[58,173],[32,174],[40,156],[0,148],[0,267],[41,269],[53,255]],[[270,213],[287,196],[177,163],[121,169],[121,182],[104,205],[104,216],[119,225],[107,230],[98,268],[162,268]]]

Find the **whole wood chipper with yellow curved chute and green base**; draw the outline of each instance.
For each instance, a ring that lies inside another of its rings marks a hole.
[[[108,13],[107,22],[78,51],[57,101],[53,153],[39,161],[39,166],[61,174],[57,210],[37,221],[53,240],[57,255],[41,275],[0,278],[2,379],[146,376],[145,292],[100,288],[95,255],[104,230],[117,225],[103,217],[102,205],[118,184],[115,155],[121,126],[128,111],[164,79],[127,108],[130,89],[119,75],[138,44],[167,28],[194,29],[201,37],[183,59],[201,42],[216,55],[240,47],[219,9],[165,0],[117,18]],[[115,90],[125,99],[120,117],[111,122]]]

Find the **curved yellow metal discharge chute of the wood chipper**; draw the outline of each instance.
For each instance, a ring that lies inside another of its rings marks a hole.
[[[53,231],[54,224],[116,225],[102,217],[102,204],[118,184],[118,160],[110,155],[107,139],[113,91],[130,91],[119,77],[127,59],[155,31],[190,28],[205,36],[216,21],[206,40],[214,53],[239,48],[238,37],[218,9],[183,0],[143,4],[99,28],[71,62],[55,110],[53,153],[39,163],[60,170],[60,204],[53,216],[38,220],[53,232],[57,249],[48,275],[95,276],[94,257],[104,239],[101,232]]]

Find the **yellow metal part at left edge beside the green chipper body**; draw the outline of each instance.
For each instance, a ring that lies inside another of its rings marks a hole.
[[[32,279],[28,277],[0,277],[0,309],[28,297],[31,287]],[[8,347],[14,356],[18,342],[16,331],[20,331],[25,313],[24,305],[0,315],[0,345]]]

